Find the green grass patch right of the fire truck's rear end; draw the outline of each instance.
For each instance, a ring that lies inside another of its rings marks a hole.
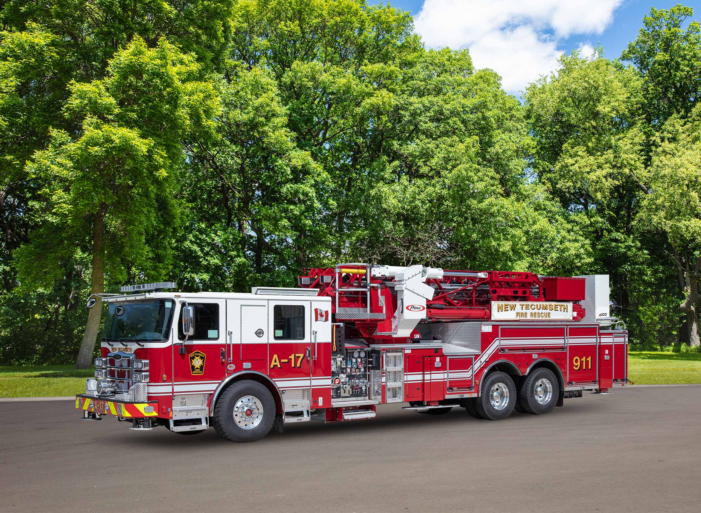
[[[628,379],[636,385],[701,383],[701,353],[629,351]]]

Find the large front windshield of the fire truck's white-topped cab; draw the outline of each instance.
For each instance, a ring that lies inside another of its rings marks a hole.
[[[168,339],[173,300],[109,303],[102,338],[109,340]]]

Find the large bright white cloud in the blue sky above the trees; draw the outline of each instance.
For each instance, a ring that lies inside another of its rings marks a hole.
[[[518,93],[543,73],[553,71],[562,38],[600,34],[622,0],[425,0],[414,18],[430,48],[469,48],[477,68],[503,77],[503,87]],[[585,50],[593,48],[580,43]]]

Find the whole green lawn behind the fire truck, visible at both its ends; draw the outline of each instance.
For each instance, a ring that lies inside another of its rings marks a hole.
[[[85,391],[93,370],[73,365],[0,367],[0,398],[74,395]],[[630,351],[628,379],[637,385],[701,383],[701,353]]]

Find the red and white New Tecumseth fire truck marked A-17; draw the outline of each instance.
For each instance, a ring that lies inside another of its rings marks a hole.
[[[383,403],[499,420],[627,383],[606,275],[351,263],[309,269],[299,288],[164,291],[175,287],[101,295],[84,419],[252,442],[290,422],[372,419]]]

